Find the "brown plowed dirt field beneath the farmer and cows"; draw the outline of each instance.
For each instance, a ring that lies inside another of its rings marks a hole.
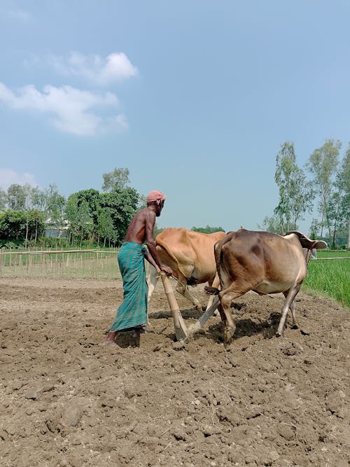
[[[176,342],[158,283],[149,332],[111,348],[121,281],[0,279],[0,291],[3,467],[349,465],[349,310],[329,300],[300,293],[300,328],[276,338],[283,295],[248,293],[225,351],[216,316]]]

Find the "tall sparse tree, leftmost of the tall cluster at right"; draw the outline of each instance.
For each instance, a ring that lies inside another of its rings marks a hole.
[[[294,144],[289,141],[281,144],[276,155],[274,180],[279,187],[279,204],[274,214],[279,216],[281,225],[286,225],[286,230],[296,229],[302,214],[311,212],[314,193],[304,172],[297,167]]]

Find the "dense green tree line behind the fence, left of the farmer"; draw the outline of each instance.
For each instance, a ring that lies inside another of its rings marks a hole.
[[[102,193],[90,188],[67,199],[55,184],[45,190],[29,184],[0,190],[0,246],[57,245],[57,238],[44,237],[48,227],[64,246],[119,246],[146,199],[128,186],[128,169],[114,169],[103,179]]]

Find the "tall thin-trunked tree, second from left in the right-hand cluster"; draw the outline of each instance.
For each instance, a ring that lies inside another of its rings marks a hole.
[[[334,181],[337,173],[340,141],[327,139],[321,148],[315,149],[307,161],[307,169],[313,175],[316,194],[320,199],[318,211],[322,217],[321,236],[323,235],[323,223],[328,229],[328,237],[331,239],[332,226],[332,195],[334,193]]]

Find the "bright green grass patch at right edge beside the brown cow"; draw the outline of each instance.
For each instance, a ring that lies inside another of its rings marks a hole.
[[[319,293],[343,307],[350,308],[350,260],[322,260],[322,258],[349,258],[349,251],[318,251],[317,260],[309,262],[302,290]]]

